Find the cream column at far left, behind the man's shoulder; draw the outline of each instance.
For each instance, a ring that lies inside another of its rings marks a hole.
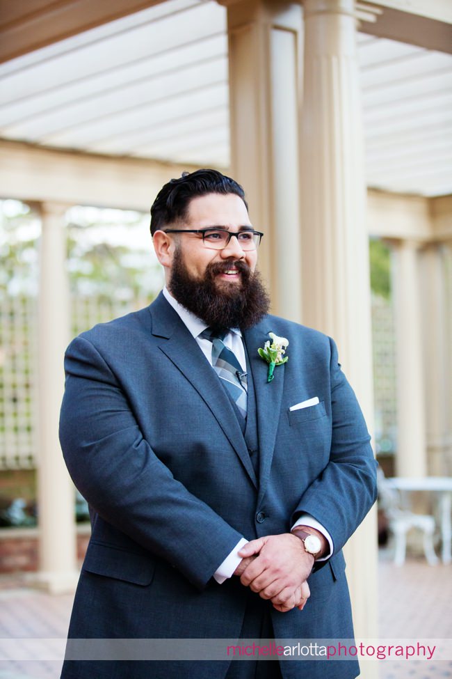
[[[65,270],[66,210],[67,205],[42,203],[38,311],[38,584],[52,593],[71,591],[77,578],[74,486],[58,441],[64,389],[63,355],[70,334],[70,295]]]

